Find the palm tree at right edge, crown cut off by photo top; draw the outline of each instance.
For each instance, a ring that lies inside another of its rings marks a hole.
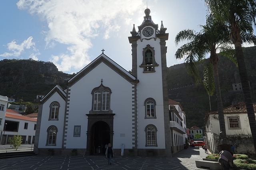
[[[214,18],[225,22],[226,27],[230,30],[229,38],[236,49],[236,59],[244,101],[254,141],[254,149],[256,150],[256,120],[252,104],[252,94],[250,92],[250,83],[244,62],[241,33],[247,33],[248,37],[252,37],[251,40],[245,42],[254,42],[254,45],[256,45],[255,35],[252,35],[253,26],[256,25],[256,0],[205,0],[205,2]]]

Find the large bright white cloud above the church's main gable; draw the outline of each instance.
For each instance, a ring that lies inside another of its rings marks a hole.
[[[48,30],[43,31],[47,47],[54,47],[54,42],[68,45],[68,53],[52,56],[62,71],[88,64],[92,38],[108,39],[121,24],[132,25],[130,17],[144,9],[142,0],[19,0],[16,5],[47,21]]]

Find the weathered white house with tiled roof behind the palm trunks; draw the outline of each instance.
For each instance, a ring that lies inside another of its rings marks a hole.
[[[253,104],[256,113],[256,104]],[[252,133],[246,105],[242,102],[224,108],[224,119],[228,144],[234,147],[234,152],[239,154],[255,154]],[[207,113],[205,116],[206,137],[212,153],[218,153],[220,144],[220,123],[218,111]]]

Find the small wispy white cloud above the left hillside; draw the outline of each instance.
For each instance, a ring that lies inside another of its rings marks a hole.
[[[7,49],[11,52],[0,54],[0,57],[19,57],[24,49],[30,49],[31,47],[33,47],[34,51],[37,51],[35,48],[35,43],[32,42],[32,40],[32,36],[25,39],[21,44],[17,44],[15,40],[12,40],[10,43],[7,43]]]

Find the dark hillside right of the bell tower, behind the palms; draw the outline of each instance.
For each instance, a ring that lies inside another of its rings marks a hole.
[[[256,47],[244,48],[244,57],[253,102],[256,102]],[[208,59],[204,63],[208,62]],[[202,64],[199,66],[202,78]],[[232,104],[244,102],[242,91],[233,92],[232,84],[240,83],[238,68],[226,57],[220,56],[218,72],[222,92],[223,106],[228,107]],[[168,88],[169,98],[180,102],[186,113],[187,127],[196,125],[204,127],[204,115],[212,111],[217,111],[216,93],[210,97],[202,84],[195,86],[192,78],[187,74],[185,64],[177,64],[168,68]]]

